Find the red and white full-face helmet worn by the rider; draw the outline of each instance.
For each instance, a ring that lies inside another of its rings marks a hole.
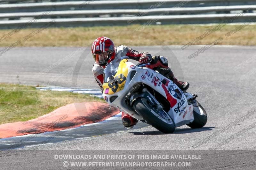
[[[92,56],[97,64],[106,66],[115,59],[116,51],[113,41],[108,37],[99,37],[92,43]]]

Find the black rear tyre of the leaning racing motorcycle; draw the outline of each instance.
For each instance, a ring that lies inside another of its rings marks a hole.
[[[187,124],[190,128],[202,128],[207,122],[207,114],[204,107],[194,99],[194,102],[198,104],[198,107],[193,107],[194,121]],[[190,104],[190,103],[189,103]]]

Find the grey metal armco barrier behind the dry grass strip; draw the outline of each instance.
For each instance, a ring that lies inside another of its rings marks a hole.
[[[0,0],[0,29],[41,27],[114,26],[142,24],[206,24],[255,18],[255,0]],[[34,2],[34,3],[30,3]],[[3,4],[4,3],[4,4]]]

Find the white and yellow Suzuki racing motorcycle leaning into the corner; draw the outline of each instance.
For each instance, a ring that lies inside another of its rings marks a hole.
[[[161,132],[172,133],[188,125],[202,128],[207,122],[196,94],[182,92],[171,80],[145,67],[134,65],[129,57],[108,63],[104,70],[103,98],[133,118]]]

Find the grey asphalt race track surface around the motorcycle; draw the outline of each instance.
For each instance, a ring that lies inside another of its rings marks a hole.
[[[141,151],[140,154],[150,150],[154,154],[162,154],[168,150],[169,154],[201,153],[203,159],[194,160],[189,169],[255,169],[256,47],[214,46],[188,59],[189,55],[201,47],[194,46],[185,50],[180,46],[134,48],[153,55],[164,55],[176,77],[190,83],[188,92],[198,94],[198,101],[208,114],[204,128],[190,129],[182,126],[172,134],[163,134],[152,127],[114,131],[115,128],[121,128],[121,123],[106,123],[102,129],[99,127],[94,132],[88,129],[89,135],[86,130],[80,131],[79,134],[85,137],[79,138],[77,135],[73,140],[66,140],[65,137],[70,133],[65,135],[65,132],[60,137],[62,142],[2,151],[0,168],[60,169],[63,168],[63,160],[55,160],[52,155],[66,153],[67,150],[70,150],[68,153],[76,154],[84,150],[86,153],[103,153],[106,150],[109,150],[108,153],[115,153],[110,150],[127,150],[123,152],[132,153],[131,150],[134,150],[134,153]],[[0,82],[96,89],[97,84],[91,72],[93,59],[90,48],[63,60],[78,49],[14,48],[1,56]],[[60,64],[51,66],[61,59]],[[38,74],[47,67],[51,69]],[[108,134],[104,132],[106,128],[110,128]],[[76,133],[74,130],[72,134]]]

